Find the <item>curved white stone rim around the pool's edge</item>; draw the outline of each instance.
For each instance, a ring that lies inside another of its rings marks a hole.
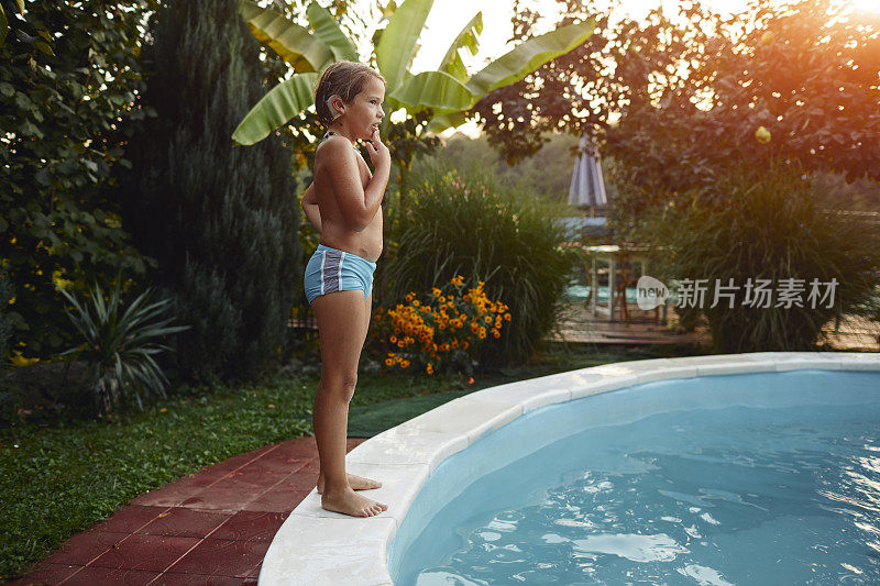
[[[818,368],[880,371],[880,353],[756,352],[604,364],[509,383],[453,399],[371,438],[345,456],[348,472],[381,479],[366,493],[388,505],[356,518],[321,508],[316,489],[282,524],[258,586],[386,586],[388,549],[421,487],[447,457],[546,405],[668,378]]]

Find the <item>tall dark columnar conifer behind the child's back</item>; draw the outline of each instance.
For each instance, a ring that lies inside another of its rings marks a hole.
[[[275,135],[237,146],[265,95],[258,46],[235,0],[165,0],[144,47],[145,121],[122,181],[124,225],[176,299],[178,368],[245,379],[277,355],[301,286],[292,156]]]

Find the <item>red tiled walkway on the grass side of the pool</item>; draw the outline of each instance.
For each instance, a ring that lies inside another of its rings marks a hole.
[[[265,445],[132,499],[8,584],[256,585],[272,538],[317,482],[314,436]]]

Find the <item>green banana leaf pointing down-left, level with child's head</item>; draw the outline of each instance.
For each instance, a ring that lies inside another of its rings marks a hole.
[[[318,74],[297,74],[282,81],[263,96],[239,128],[232,140],[239,144],[254,144],[315,103],[312,91],[318,82]]]

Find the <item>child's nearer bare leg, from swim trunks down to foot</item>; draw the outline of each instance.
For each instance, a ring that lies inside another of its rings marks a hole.
[[[358,383],[358,363],[370,318],[363,291],[322,295],[312,300],[311,308],[321,344],[321,382],[315,397],[312,424],[324,480],[322,504],[328,508],[327,502],[332,501],[331,510],[348,515],[377,515],[387,507],[354,495],[345,475],[349,402]]]

